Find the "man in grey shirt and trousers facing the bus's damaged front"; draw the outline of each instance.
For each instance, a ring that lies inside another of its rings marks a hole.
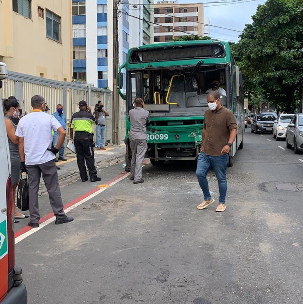
[[[135,99],[136,108],[129,111],[130,134],[129,142],[132,150],[130,180],[134,184],[144,183],[142,178],[142,162],[147,150],[146,125],[149,123],[150,113],[144,110],[142,98]]]

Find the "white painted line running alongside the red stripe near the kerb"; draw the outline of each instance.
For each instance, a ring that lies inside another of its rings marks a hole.
[[[127,176],[129,176],[130,173],[127,173],[125,175],[123,175],[122,177],[118,178],[117,180],[113,181],[112,183],[109,184],[109,186],[113,186],[115,184],[117,184],[119,181],[122,181],[122,179],[126,178]],[[82,199],[81,201],[77,202],[75,205],[72,205],[68,208],[66,208],[64,210],[65,213],[71,211],[72,209],[75,209],[76,207],[82,205],[83,203],[87,202],[88,200],[92,199],[93,197],[95,197],[96,195],[100,194],[101,192],[105,191],[108,188],[101,188],[100,190],[92,193],[91,195],[87,196],[86,198]],[[15,238],[15,244],[18,244],[20,241],[24,240],[26,237],[29,237],[30,235],[32,235],[33,233],[37,232],[38,230],[42,229],[43,227],[47,226],[48,224],[50,224],[51,222],[53,222],[56,219],[55,216],[51,217],[50,219],[47,219],[45,222],[41,223],[39,225],[39,227],[37,228],[32,228],[30,231],[27,231],[21,235],[19,235],[19,237]]]

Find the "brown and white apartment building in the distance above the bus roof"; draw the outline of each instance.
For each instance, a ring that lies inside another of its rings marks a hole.
[[[154,5],[154,42],[183,35],[203,35],[203,4],[160,1]]]

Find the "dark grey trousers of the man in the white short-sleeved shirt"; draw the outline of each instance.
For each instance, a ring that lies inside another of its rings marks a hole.
[[[63,203],[61,199],[55,159],[40,165],[26,165],[26,170],[28,172],[30,221],[32,223],[38,223],[40,219],[38,206],[38,191],[40,185],[41,172],[45,187],[48,191],[48,196],[53,212],[55,216],[59,218],[64,218],[65,212],[63,211]]]

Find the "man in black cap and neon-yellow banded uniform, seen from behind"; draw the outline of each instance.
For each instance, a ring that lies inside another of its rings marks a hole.
[[[95,168],[92,138],[92,125],[96,123],[96,118],[91,113],[90,107],[87,106],[85,100],[79,102],[79,109],[79,112],[72,115],[69,136],[75,144],[80,177],[82,181],[88,180],[84,163],[85,159],[88,173],[90,174],[90,181],[100,181],[101,178],[97,176],[97,170]],[[73,137],[74,130],[75,136]]]

